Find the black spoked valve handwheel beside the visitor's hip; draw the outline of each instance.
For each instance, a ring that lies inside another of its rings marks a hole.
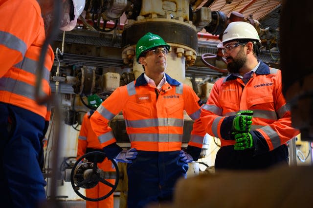
[[[94,156],[95,158],[93,163],[87,162],[87,163],[79,164],[80,161],[83,161],[84,158],[91,157],[91,156]],[[116,162],[113,159],[111,159],[111,162],[115,167],[115,172],[114,172],[115,183],[112,184],[105,179],[105,177],[106,176],[109,177],[110,174],[106,174],[103,170],[97,167],[96,158],[99,158],[99,157],[106,157],[106,155],[104,152],[101,152],[101,151],[92,151],[92,152],[84,154],[76,161],[70,173],[70,183],[75,193],[87,201],[97,202],[97,201],[101,201],[101,200],[108,198],[115,191],[118,185],[119,171],[118,171]],[[78,191],[80,188],[91,189],[95,187],[96,185],[98,185],[99,182],[111,187],[112,190],[106,195],[99,197],[99,198],[89,198],[89,197],[84,196]]]

